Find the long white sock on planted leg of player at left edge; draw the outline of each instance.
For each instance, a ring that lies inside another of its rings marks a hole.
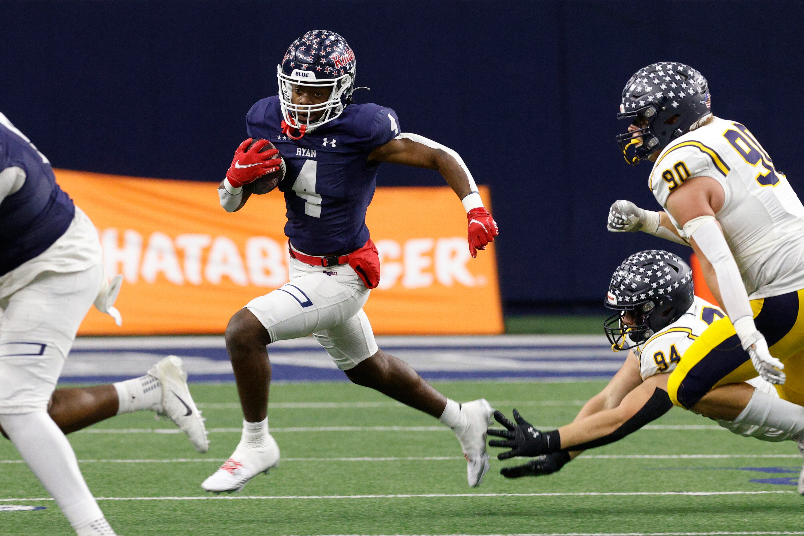
[[[104,518],[81,476],[70,442],[50,415],[44,411],[0,415],[0,426],[73,528]]]

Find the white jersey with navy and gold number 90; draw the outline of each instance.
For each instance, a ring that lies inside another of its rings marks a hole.
[[[667,208],[671,192],[692,177],[712,177],[723,186],[725,201],[716,219],[749,299],[804,288],[804,207],[749,129],[713,117],[677,138],[659,154],[650,190]]]

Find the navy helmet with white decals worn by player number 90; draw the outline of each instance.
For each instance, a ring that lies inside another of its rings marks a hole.
[[[711,113],[709,86],[701,73],[683,63],[652,63],[631,76],[622,90],[617,119],[629,118],[638,130],[617,135],[617,143],[631,166]]]

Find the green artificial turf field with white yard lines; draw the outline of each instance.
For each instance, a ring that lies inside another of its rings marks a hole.
[[[546,427],[572,419],[580,401],[602,385],[437,383],[454,399],[482,396],[506,412],[516,403],[531,422]],[[170,433],[69,436],[84,460],[80,466],[90,488],[96,497],[107,497],[100,506],[122,536],[804,530],[804,498],[794,493],[794,485],[751,481],[794,481],[801,463],[792,443],[734,436],[712,429],[708,419],[674,409],[654,423],[658,428],[590,451],[591,456],[550,477],[507,481],[498,474],[503,463],[492,460],[483,485],[470,489],[452,432],[436,428],[438,423],[426,415],[347,383],[272,387],[276,407],[270,426],[282,449],[281,467],[253,480],[244,495],[216,498],[205,495],[199,484],[240,437],[227,431],[240,428],[235,388],[192,388],[212,431],[205,455],[195,452],[184,436]],[[690,425],[699,428],[679,429]],[[349,428],[321,429],[338,427]],[[152,414],[140,412],[100,423],[91,432],[149,428],[173,429],[171,423],[155,422]],[[693,457],[678,457],[682,455]],[[9,442],[0,443],[0,460],[5,460],[0,464],[0,505],[47,509],[0,512],[0,534],[73,534],[52,501],[31,500],[47,493],[24,464],[8,461],[18,459]],[[167,462],[171,459],[178,460]],[[776,473],[742,469],[768,467]],[[126,500],[131,497],[153,500]],[[195,500],[175,500],[181,497]]]

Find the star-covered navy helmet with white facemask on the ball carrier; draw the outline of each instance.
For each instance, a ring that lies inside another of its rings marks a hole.
[[[343,113],[351,102],[356,72],[355,52],[334,31],[308,31],[293,41],[277,65],[283,132],[296,129],[301,137]],[[331,88],[330,97],[322,104],[293,104],[293,86],[300,85]],[[302,120],[299,113],[306,118]]]

